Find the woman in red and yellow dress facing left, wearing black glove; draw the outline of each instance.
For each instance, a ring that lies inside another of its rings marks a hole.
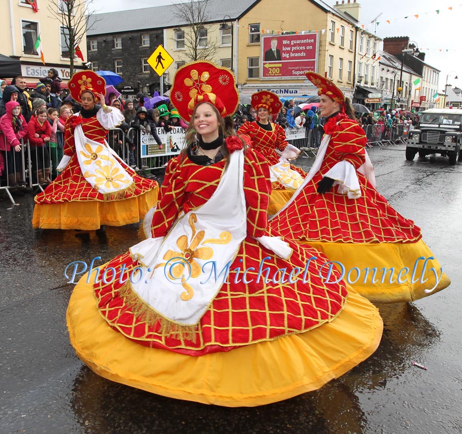
[[[327,118],[316,160],[291,201],[270,227],[337,261],[344,278],[375,302],[413,301],[449,285],[422,240],[375,189],[367,139],[348,98],[314,72],[321,115]]]

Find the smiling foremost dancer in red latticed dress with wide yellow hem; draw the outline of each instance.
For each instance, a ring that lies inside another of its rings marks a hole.
[[[377,310],[326,282],[318,252],[266,232],[267,163],[224,119],[238,102],[232,71],[192,62],[170,95],[187,147],[166,169],[151,238],[76,285],[78,356],[113,381],[226,406],[319,388],[369,357]]]

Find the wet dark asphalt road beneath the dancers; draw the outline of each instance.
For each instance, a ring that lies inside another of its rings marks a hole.
[[[32,230],[32,196],[0,202],[0,433],[462,432],[462,164],[406,162],[403,145],[369,150],[377,189],[417,222],[452,280],[411,304],[380,306],[383,338],[365,362],[318,391],[255,408],[168,399],[91,372],[68,340],[74,260],[103,262],[137,241],[137,226],[94,232]],[[299,157],[309,168],[313,158]],[[411,365],[425,364],[428,370]]]

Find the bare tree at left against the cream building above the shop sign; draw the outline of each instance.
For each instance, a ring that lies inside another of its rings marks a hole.
[[[70,75],[74,73],[75,49],[82,42],[82,38],[95,24],[93,0],[50,0],[48,12],[50,18],[61,23],[61,41],[69,52]],[[89,18],[91,17],[91,24]],[[66,56],[67,57],[67,56]]]

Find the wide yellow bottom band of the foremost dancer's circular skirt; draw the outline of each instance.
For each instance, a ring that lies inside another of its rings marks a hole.
[[[194,357],[149,348],[110,328],[84,275],[67,308],[72,346],[109,380],[170,398],[228,407],[256,406],[315,390],[367,359],[383,323],[378,310],[351,291],[332,322],[301,334]]]

